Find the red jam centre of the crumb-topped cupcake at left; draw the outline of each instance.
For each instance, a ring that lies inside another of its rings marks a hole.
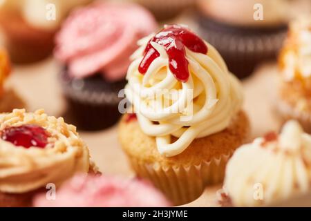
[[[1,139],[11,142],[15,146],[23,146],[29,148],[36,146],[39,148],[46,147],[50,134],[41,126],[23,125],[4,128],[1,131]]]

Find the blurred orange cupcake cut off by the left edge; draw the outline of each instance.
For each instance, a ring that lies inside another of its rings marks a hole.
[[[25,107],[24,102],[15,93],[15,90],[5,88],[10,71],[10,61],[6,50],[0,47],[0,113],[11,112],[14,108]]]

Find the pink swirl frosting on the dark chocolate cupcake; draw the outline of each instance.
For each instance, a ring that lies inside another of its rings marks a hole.
[[[136,42],[156,30],[151,13],[133,3],[94,3],[73,12],[56,36],[55,57],[69,74],[122,79]]]

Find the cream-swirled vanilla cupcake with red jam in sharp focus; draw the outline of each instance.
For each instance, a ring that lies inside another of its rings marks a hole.
[[[139,43],[125,88],[135,115],[122,117],[120,142],[139,177],[185,204],[223,180],[248,138],[242,88],[217,50],[185,26]]]

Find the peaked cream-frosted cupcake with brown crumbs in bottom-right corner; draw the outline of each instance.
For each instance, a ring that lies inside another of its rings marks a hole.
[[[291,120],[280,135],[267,133],[236,150],[227,164],[223,196],[232,206],[271,206],[310,194],[310,183],[311,136]]]

